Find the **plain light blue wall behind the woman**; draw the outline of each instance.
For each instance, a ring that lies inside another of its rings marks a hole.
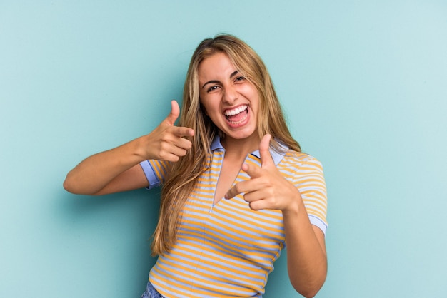
[[[159,190],[62,188],[149,133],[192,51],[226,32],[268,66],[322,161],[329,271],[317,297],[445,297],[446,1],[1,1],[0,297],[139,297]],[[265,297],[299,297],[285,255]]]

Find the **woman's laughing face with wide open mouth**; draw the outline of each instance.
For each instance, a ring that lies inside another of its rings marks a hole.
[[[258,143],[258,91],[225,53],[200,63],[199,91],[206,115],[226,135],[226,142],[247,139]]]

